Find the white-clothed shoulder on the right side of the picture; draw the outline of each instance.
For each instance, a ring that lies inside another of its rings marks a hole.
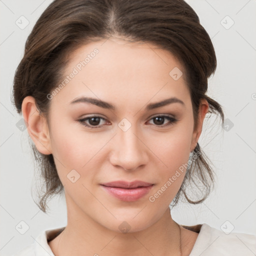
[[[206,223],[200,225],[199,234],[189,256],[245,256],[256,254],[256,235],[224,232]],[[198,225],[196,226],[198,227]]]

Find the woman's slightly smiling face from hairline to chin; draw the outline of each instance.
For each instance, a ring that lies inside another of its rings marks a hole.
[[[48,95],[47,148],[69,216],[139,231],[169,210],[201,128],[193,130],[189,90],[173,68],[183,72],[150,43],[109,38],[73,52],[66,80]]]

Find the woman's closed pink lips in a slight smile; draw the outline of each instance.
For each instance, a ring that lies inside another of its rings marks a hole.
[[[154,184],[136,180],[112,181],[100,184],[101,187],[112,196],[122,201],[136,201],[146,195]]]

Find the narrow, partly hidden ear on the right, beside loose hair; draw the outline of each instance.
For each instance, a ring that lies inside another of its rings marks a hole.
[[[198,109],[199,113],[198,113],[197,127],[193,131],[190,152],[192,152],[194,150],[194,148],[196,147],[198,138],[202,131],[203,119],[205,117],[205,114],[208,112],[208,110],[209,110],[208,101],[205,98],[201,99],[201,102],[199,104],[199,109]]]

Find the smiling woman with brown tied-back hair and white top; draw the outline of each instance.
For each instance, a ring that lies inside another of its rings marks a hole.
[[[45,181],[38,206],[46,212],[64,190],[67,225],[16,255],[256,251],[255,235],[171,217],[170,202],[200,203],[213,184],[197,141],[206,113],[224,119],[206,95],[215,69],[210,38],[183,0],[53,1],[28,36],[13,100]],[[189,182],[202,189],[197,200]]]

